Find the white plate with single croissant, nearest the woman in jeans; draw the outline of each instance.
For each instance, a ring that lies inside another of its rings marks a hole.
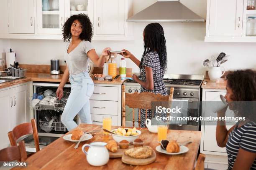
[[[81,142],[92,139],[91,134],[84,133],[82,130],[79,130],[79,129],[73,130],[71,134],[64,135],[63,139],[71,142],[78,142],[81,136],[82,136]]]

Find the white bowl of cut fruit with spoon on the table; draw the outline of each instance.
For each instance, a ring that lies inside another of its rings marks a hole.
[[[129,143],[132,143],[133,140],[136,140],[139,135],[141,135],[141,131],[134,128],[118,128],[113,129],[111,132],[115,134],[111,134],[113,139],[119,143],[121,140],[128,140]]]

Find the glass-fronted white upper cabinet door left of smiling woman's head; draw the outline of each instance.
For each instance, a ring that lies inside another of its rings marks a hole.
[[[37,0],[37,33],[61,34],[65,22],[64,0]]]

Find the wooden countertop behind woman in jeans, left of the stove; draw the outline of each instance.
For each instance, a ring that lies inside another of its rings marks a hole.
[[[12,85],[18,85],[28,81],[37,82],[61,82],[63,74],[60,75],[50,75],[49,73],[27,73],[26,78],[13,80],[10,82],[5,82],[0,84],[0,89],[5,87],[10,87]],[[108,80],[93,80],[94,84],[110,84],[110,85],[122,85],[125,80],[118,78],[113,81]]]

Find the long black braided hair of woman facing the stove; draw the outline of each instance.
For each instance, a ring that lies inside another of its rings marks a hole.
[[[164,71],[167,70],[167,51],[166,51],[166,41],[164,37],[164,29],[159,23],[148,24],[144,31],[144,52],[141,58],[141,63],[139,68],[142,68],[142,62],[145,55],[148,52],[156,51],[159,56],[159,61],[161,68]]]

